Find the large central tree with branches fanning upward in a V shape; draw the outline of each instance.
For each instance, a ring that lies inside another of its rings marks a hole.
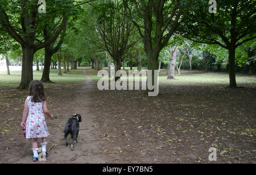
[[[166,47],[183,21],[182,16],[191,1],[123,0],[123,2],[129,7],[130,18],[143,38],[148,70],[158,70],[159,53]],[[154,80],[154,74],[152,80]]]

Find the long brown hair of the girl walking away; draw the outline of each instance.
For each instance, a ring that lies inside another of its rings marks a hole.
[[[40,103],[46,100],[42,81],[34,80],[30,82],[30,96],[32,96],[31,100],[34,103]]]

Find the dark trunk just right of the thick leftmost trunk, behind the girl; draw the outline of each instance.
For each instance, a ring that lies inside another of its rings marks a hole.
[[[51,61],[51,58],[52,53],[50,47],[47,46],[46,48],[44,48],[44,70],[41,78],[41,81],[43,82],[52,82],[49,79],[50,68],[53,68],[53,61]]]

